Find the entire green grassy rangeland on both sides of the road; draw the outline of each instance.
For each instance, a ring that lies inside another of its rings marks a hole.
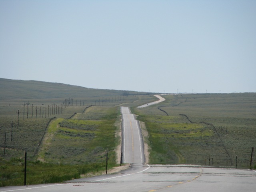
[[[120,106],[146,125],[151,164],[249,168],[256,93],[165,95],[0,78],[0,186],[54,183],[116,166]],[[210,161],[209,161],[210,160]],[[252,165],[256,165],[255,152]],[[256,168],[256,167],[255,167]]]

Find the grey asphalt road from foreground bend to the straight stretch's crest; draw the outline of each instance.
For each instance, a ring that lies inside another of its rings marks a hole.
[[[144,164],[140,126],[122,107],[123,160],[127,170],[60,184],[1,187],[0,192],[255,192],[256,171],[193,165]],[[29,174],[29,173],[28,173]]]

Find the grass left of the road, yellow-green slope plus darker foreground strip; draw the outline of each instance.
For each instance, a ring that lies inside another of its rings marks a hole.
[[[26,183],[63,182],[80,178],[81,174],[105,170],[106,152],[108,167],[116,166],[119,115],[119,107],[92,106],[72,119],[53,119],[35,157],[40,161],[29,158]],[[24,142],[29,144],[30,140]],[[20,155],[10,160],[1,158],[0,186],[24,183],[24,153]]]

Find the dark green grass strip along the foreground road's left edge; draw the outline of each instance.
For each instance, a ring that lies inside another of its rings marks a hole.
[[[24,184],[24,162],[13,159],[8,162],[0,159],[0,186],[15,186]],[[112,168],[116,164],[108,164]],[[105,163],[84,165],[49,164],[41,162],[27,162],[26,184],[57,183],[81,178],[83,174],[95,174],[106,170]]]

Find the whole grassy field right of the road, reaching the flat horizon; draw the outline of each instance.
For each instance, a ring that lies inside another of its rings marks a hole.
[[[165,102],[133,108],[146,123],[150,163],[249,168],[256,147],[256,94],[166,95]],[[159,110],[164,110],[165,112]],[[253,165],[256,165],[255,153]]]

